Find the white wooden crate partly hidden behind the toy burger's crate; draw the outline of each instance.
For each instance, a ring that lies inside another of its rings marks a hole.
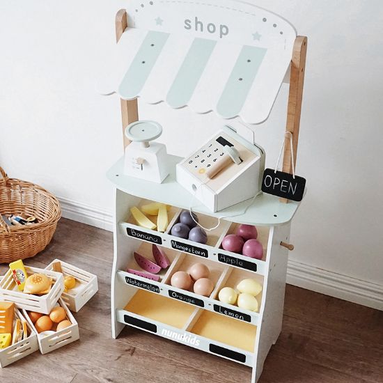
[[[45,267],[45,269],[52,270],[53,264],[56,262],[61,264],[64,277],[70,275],[74,276],[76,279],[75,288],[72,288],[68,292],[63,292],[61,298],[70,311],[77,313],[98,291],[97,275],[86,272],[83,269],[79,269],[78,267],[58,259],[55,259],[52,263]]]

